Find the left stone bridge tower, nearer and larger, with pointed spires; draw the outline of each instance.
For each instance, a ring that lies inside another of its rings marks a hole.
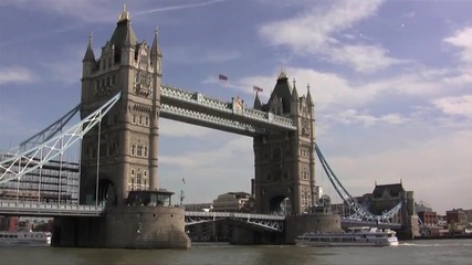
[[[125,7],[101,56],[95,59],[91,36],[83,59],[81,117],[118,92],[122,98],[83,138],[81,204],[123,205],[128,191],[158,188],[162,55],[157,29],[149,46],[138,42],[130,21]]]

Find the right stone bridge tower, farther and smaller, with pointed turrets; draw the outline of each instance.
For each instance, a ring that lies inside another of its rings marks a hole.
[[[281,72],[271,97],[261,104],[256,94],[254,108],[268,115],[294,120],[295,131],[269,131],[254,137],[255,211],[259,213],[300,214],[315,204],[315,108],[307,87],[298,97],[295,86]]]

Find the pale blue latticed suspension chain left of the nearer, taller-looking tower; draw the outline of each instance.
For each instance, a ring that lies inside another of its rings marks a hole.
[[[3,156],[2,160],[0,160],[0,184],[13,179],[20,179],[24,174],[42,167],[50,160],[63,153],[73,144],[82,139],[86,132],[95,127],[95,125],[101,123],[102,118],[118,102],[120,96],[122,93],[116,94],[98,109],[61,135],[57,135],[29,150],[12,156]]]

